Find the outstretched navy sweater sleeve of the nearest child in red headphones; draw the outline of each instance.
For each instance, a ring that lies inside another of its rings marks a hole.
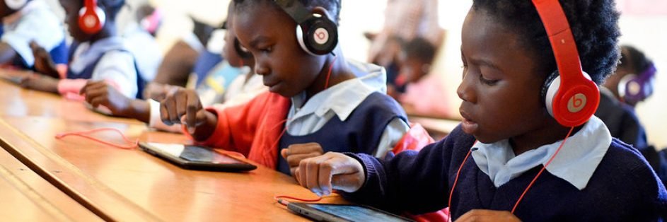
[[[361,162],[366,182],[354,193],[340,192],[351,201],[376,206],[387,211],[423,214],[447,205],[451,172],[468,150],[453,151],[454,141],[463,137],[460,128],[445,139],[419,151],[403,151],[389,160],[366,154],[347,153]],[[458,137],[458,138],[457,138]],[[465,139],[465,147],[474,139]],[[470,148],[468,146],[467,148]],[[453,156],[456,153],[456,156]],[[460,154],[463,153],[463,156]]]

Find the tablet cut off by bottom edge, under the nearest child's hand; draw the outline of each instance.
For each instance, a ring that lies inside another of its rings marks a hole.
[[[371,206],[354,204],[309,204],[291,202],[287,209],[315,221],[412,221]]]

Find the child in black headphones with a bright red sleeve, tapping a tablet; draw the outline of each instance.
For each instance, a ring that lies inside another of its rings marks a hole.
[[[161,103],[163,121],[184,123],[202,144],[238,151],[286,174],[302,158],[324,151],[385,156],[407,132],[405,113],[383,93],[383,69],[346,61],[336,44],[340,1],[234,2],[233,29],[240,45],[253,54],[255,71],[270,92],[245,105],[216,110],[204,109],[194,92],[179,90]],[[332,52],[310,54],[299,45],[294,18],[278,5],[290,3],[305,4],[296,6],[305,11],[301,14],[328,20],[318,21],[331,24],[328,32],[313,37],[331,37],[320,44],[331,44]]]

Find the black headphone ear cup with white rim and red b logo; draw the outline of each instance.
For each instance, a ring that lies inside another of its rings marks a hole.
[[[296,39],[309,54],[329,54],[338,44],[338,28],[328,18],[313,14],[307,21],[296,25]]]

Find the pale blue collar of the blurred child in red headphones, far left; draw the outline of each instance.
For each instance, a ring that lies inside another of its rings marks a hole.
[[[95,41],[93,45],[90,42],[81,42],[76,48],[74,59],[69,64],[69,69],[74,73],[79,73],[86,69],[88,64],[95,62],[105,52],[112,50],[127,50],[123,43],[122,37],[112,36]]]

